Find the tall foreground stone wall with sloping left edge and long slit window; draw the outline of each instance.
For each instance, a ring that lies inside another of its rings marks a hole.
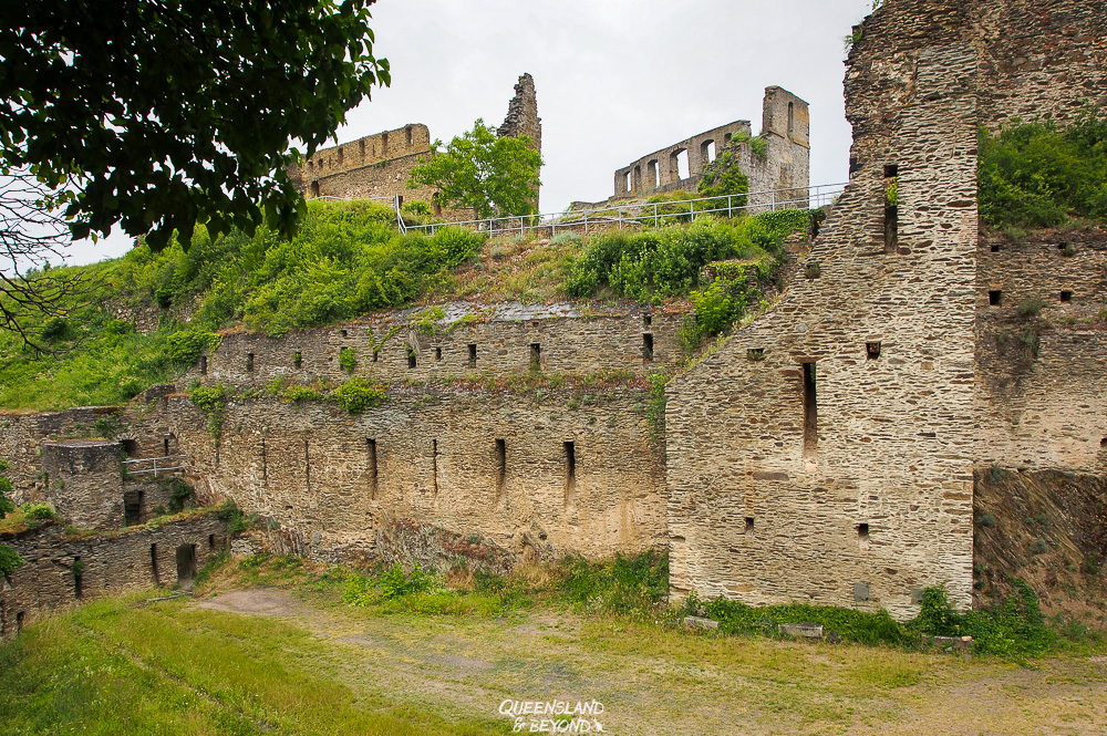
[[[968,46],[919,54],[894,134],[855,145],[865,166],[809,256],[821,276],[671,384],[674,593],[909,618],[945,582],[970,604],[974,70]]]

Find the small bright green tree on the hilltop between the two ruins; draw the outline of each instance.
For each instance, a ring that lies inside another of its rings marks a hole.
[[[480,218],[532,215],[542,157],[531,145],[528,136],[501,138],[477,120],[444,152],[442,141],[435,141],[430,160],[412,170],[407,186],[436,187],[437,204],[470,207]]]

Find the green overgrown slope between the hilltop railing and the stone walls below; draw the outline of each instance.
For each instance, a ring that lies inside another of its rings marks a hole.
[[[779,220],[783,212],[772,215]],[[485,243],[483,236],[457,228],[432,237],[401,236],[392,211],[372,203],[313,203],[291,241],[261,230],[211,242],[198,232],[187,253],[176,246],[158,255],[138,247],[116,260],[54,269],[51,278],[83,279],[86,294],[62,304],[64,319],[28,315],[32,328],[51,335],[45,343],[56,354],[35,354],[0,332],[0,407],[126,402],[173,381],[195,360],[195,353],[174,350],[173,335],[182,331],[245,326],[279,335],[374,310],[453,299],[686,300],[711,260],[743,256],[768,262],[792,220],[806,224],[806,215],[782,220],[784,226],[748,218],[736,225],[674,224],[587,242],[566,234],[552,241]],[[612,278],[620,273],[622,281]],[[767,273],[763,269],[757,278]],[[132,312],[156,315],[158,329],[136,333]],[[183,324],[174,314],[192,319]]]

